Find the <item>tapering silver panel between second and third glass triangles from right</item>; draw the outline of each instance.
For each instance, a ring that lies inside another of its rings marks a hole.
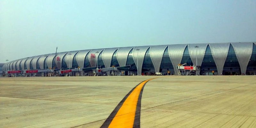
[[[229,44],[230,43],[209,44],[218,74],[221,74],[223,71],[223,67],[228,56]]]

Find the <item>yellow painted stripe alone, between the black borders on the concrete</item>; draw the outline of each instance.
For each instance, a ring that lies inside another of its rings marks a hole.
[[[137,107],[140,91],[144,84],[152,79],[141,82],[127,97],[121,108],[116,113],[112,122],[109,124],[109,128],[132,128],[135,118],[135,112]]]

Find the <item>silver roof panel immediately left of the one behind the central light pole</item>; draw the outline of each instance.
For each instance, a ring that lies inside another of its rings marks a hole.
[[[123,47],[118,49],[116,58],[120,66],[126,66],[127,57],[132,48],[134,47]]]

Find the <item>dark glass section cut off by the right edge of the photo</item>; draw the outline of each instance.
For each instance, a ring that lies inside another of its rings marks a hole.
[[[252,45],[252,56],[246,69],[246,75],[256,75],[256,45]]]

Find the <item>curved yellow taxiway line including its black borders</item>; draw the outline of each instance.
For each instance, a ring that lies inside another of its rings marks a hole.
[[[155,79],[155,78],[152,78]],[[116,106],[101,128],[140,127],[140,105],[142,91],[148,79],[135,86]]]

